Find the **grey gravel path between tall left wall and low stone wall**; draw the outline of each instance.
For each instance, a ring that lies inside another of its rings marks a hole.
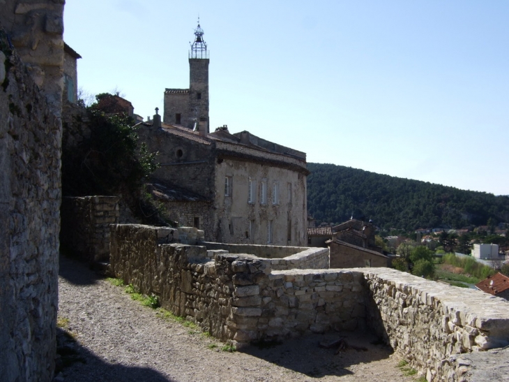
[[[272,348],[221,351],[224,345],[158,316],[131,300],[86,265],[61,258],[59,353],[55,381],[413,381],[397,368],[390,349],[359,333],[343,333],[351,345],[335,355],[319,348],[338,333],[311,335]],[[63,367],[63,369],[62,369]]]

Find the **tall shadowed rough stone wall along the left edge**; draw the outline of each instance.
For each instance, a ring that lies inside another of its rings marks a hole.
[[[8,21],[10,31],[17,30],[15,19],[28,17],[26,7],[43,3],[20,1],[15,7],[13,1],[3,1],[0,20]],[[10,14],[14,8],[16,13]],[[25,27],[31,26],[20,28]],[[27,36],[32,43],[40,38]],[[0,26],[0,379],[6,382],[52,379],[60,145],[61,124],[54,109]]]

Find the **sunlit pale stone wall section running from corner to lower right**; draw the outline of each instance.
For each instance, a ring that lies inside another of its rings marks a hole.
[[[457,381],[455,355],[509,344],[506,300],[388,268],[356,270],[367,282],[367,322],[428,381]]]

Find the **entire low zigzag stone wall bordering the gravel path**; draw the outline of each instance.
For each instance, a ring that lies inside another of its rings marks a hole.
[[[164,228],[111,228],[116,277],[236,346],[369,329],[427,381],[469,381],[477,358],[460,354],[509,344],[509,302],[480,291],[388,268],[273,270],[273,259],[225,254],[222,244],[158,244]]]

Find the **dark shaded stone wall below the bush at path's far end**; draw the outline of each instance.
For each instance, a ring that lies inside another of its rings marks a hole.
[[[119,221],[119,197],[65,197],[61,207],[60,240],[85,260],[109,258],[109,224]]]

